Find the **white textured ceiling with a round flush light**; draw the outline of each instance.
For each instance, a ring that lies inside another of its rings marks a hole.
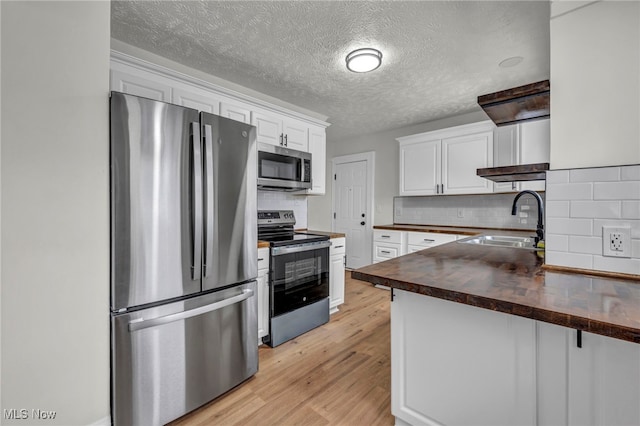
[[[547,1],[111,4],[113,38],[326,115],[330,140],[476,111],[478,95],[549,78]],[[348,71],[359,47],[382,66]]]

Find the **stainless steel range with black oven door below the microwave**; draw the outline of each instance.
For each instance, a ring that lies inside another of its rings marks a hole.
[[[278,346],[329,321],[329,237],[296,233],[291,210],[258,211],[258,239],[270,244],[269,329]]]

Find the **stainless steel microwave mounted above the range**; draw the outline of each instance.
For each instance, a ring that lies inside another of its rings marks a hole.
[[[258,188],[277,191],[311,188],[311,154],[258,143]]]

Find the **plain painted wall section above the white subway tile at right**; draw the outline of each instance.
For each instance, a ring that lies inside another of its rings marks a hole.
[[[552,169],[640,163],[640,2],[553,2],[550,81]]]

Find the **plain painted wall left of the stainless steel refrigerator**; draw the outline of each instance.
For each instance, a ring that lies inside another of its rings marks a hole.
[[[110,5],[0,8],[0,405],[91,424],[109,415]]]

